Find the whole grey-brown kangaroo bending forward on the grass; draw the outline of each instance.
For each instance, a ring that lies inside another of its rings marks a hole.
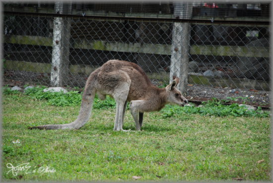
[[[102,100],[106,95],[110,95],[116,101],[114,131],[128,131],[123,129],[127,102],[130,102],[136,130],[140,130],[144,112],[159,111],[167,103],[184,106],[188,102],[176,88],[178,83],[179,78],[174,76],[171,84],[165,88],[158,88],[151,83],[137,64],[109,60],[88,77],[82,94],[80,111],[75,121],[68,124],[34,126],[29,129],[79,129],[90,118],[93,100],[97,93]]]

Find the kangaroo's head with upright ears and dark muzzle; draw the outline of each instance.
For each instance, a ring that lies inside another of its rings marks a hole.
[[[173,82],[169,84],[165,89],[167,91],[167,102],[184,106],[188,103],[188,100],[182,95],[182,93],[176,88],[179,83],[179,78],[173,77]]]

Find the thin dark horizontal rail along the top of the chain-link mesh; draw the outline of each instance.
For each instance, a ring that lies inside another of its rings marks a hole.
[[[70,17],[70,18],[92,18],[103,20],[128,20],[128,21],[152,21],[152,22],[189,22],[189,23],[205,23],[205,24],[237,24],[237,25],[270,25],[268,20],[231,20],[231,19],[217,19],[211,18],[210,20],[201,19],[178,19],[178,18],[160,18],[160,17],[122,17],[122,16],[96,16],[96,15],[75,15],[75,14],[56,14],[56,13],[33,13],[33,12],[14,12],[4,11],[6,15],[19,15],[19,16],[46,16],[46,17]]]

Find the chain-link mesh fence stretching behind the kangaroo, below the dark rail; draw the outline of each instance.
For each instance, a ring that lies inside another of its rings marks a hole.
[[[268,23],[4,14],[5,82],[82,88],[112,59],[160,85],[270,90]]]

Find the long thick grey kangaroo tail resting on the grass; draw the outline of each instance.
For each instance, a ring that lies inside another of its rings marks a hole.
[[[98,69],[96,70],[98,71]],[[79,129],[90,118],[94,97],[96,94],[95,83],[97,80],[97,73],[94,71],[88,78],[85,84],[84,92],[82,94],[81,106],[78,117],[75,121],[68,124],[48,124],[42,126],[29,127],[28,129]]]

